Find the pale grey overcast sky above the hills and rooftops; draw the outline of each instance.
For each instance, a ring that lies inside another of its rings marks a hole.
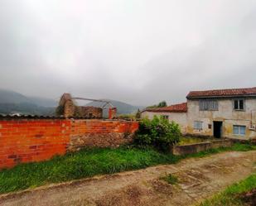
[[[149,105],[254,86],[255,0],[0,0],[2,89]]]

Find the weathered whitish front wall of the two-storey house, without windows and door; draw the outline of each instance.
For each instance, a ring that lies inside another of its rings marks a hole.
[[[235,111],[233,109],[234,99],[219,99],[218,111],[200,111],[199,100],[187,101],[187,132],[191,134],[200,134],[213,136],[213,121],[223,122],[223,137],[232,137],[238,139],[256,138],[256,132],[249,130],[251,124],[256,125],[256,99],[245,98],[244,111]],[[194,129],[194,121],[203,122],[202,131]],[[211,129],[208,125],[211,124]],[[233,134],[233,125],[246,126],[245,136]]]

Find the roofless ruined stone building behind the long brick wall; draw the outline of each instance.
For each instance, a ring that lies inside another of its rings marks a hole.
[[[104,103],[102,108],[93,107],[93,106],[77,106],[75,99],[80,100],[92,100]],[[90,98],[72,98],[70,93],[64,93],[60,98],[60,103],[56,109],[57,115],[68,117],[82,117],[82,118],[103,118],[103,109],[104,107],[110,104],[109,108],[109,119],[116,117],[117,108],[114,108],[113,105],[104,100],[96,100]]]

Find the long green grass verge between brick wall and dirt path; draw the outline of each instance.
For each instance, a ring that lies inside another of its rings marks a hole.
[[[35,188],[49,183],[78,180],[94,175],[138,170],[152,165],[174,164],[188,157],[203,157],[221,151],[249,151],[256,146],[234,144],[229,148],[204,151],[189,156],[173,156],[153,149],[104,148],[85,149],[51,160],[17,165],[0,171],[0,194]]]

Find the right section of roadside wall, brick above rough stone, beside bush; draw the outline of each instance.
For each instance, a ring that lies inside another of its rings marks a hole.
[[[118,147],[133,139],[138,122],[75,120],[71,122],[69,151],[85,146]]]

